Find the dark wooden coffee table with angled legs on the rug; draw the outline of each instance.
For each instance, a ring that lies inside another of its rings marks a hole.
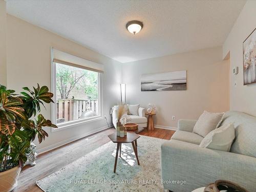
[[[113,134],[109,135],[108,137],[113,141],[113,143],[117,143],[114,173],[116,173],[116,163],[117,163],[117,158],[118,158],[118,151],[119,151],[120,157],[121,157],[122,143],[132,143],[133,151],[135,153],[138,165],[140,165],[139,158],[138,158],[137,145],[135,144],[135,141],[138,138],[140,138],[139,135],[137,135],[136,133],[127,132],[127,135],[124,137],[119,137],[116,135],[116,133],[113,133]]]

